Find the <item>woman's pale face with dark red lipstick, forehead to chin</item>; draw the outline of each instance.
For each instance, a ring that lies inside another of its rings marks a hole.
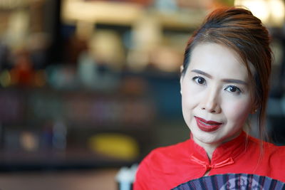
[[[219,145],[239,135],[252,101],[247,68],[234,51],[197,45],[180,83],[183,117],[197,144]]]

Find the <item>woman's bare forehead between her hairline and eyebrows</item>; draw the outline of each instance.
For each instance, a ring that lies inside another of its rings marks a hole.
[[[220,78],[248,80],[248,71],[238,54],[217,43],[200,43],[193,48],[188,70],[199,69]]]

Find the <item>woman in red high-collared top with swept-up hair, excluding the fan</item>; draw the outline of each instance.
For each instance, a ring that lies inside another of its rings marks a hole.
[[[182,113],[191,137],[147,155],[134,189],[172,189],[227,173],[285,182],[285,147],[244,132],[256,113],[264,136],[270,72],[269,33],[259,19],[240,8],[209,14],[187,43],[180,78]]]

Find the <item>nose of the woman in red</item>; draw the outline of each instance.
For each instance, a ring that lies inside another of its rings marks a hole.
[[[217,90],[208,90],[201,103],[202,110],[206,110],[211,113],[220,113],[222,108],[219,103],[219,92]]]

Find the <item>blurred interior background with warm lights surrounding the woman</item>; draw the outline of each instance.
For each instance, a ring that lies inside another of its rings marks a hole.
[[[284,145],[284,0],[1,0],[0,189],[117,189],[120,167],[189,138],[187,38],[233,5],[271,33],[267,127]]]

